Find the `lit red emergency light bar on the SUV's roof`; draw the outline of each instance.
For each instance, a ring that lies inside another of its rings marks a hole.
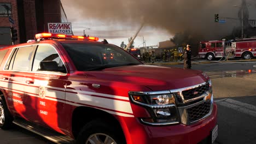
[[[36,39],[45,39],[45,38],[53,38],[53,39],[80,39],[80,40],[98,41],[97,37],[83,37],[83,36],[75,36],[75,35],[53,34],[53,33],[38,33],[38,34],[36,34]]]

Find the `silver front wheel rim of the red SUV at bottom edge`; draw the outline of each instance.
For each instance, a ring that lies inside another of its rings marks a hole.
[[[117,142],[109,135],[96,133],[90,135],[85,144],[117,144]]]

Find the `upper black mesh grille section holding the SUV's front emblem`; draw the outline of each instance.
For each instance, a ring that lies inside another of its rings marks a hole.
[[[185,100],[193,99],[196,97],[200,97],[203,93],[209,91],[209,85],[206,83],[206,85],[196,87],[193,89],[189,89],[187,91],[183,91],[182,95]]]

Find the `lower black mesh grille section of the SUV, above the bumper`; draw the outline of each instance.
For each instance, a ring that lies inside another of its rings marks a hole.
[[[210,112],[210,109],[211,109],[210,100],[187,109],[189,121],[194,122],[205,117]]]

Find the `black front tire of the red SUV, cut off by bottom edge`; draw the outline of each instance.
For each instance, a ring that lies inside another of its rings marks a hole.
[[[121,132],[121,133],[120,133]],[[125,142],[124,135],[122,131],[115,129],[113,125],[110,125],[107,122],[101,121],[100,119],[91,121],[87,123],[84,128],[80,131],[76,144],[90,144],[89,138],[91,136],[98,135],[98,140],[104,141],[106,136],[110,137],[110,140],[113,140],[116,144],[123,144]],[[108,138],[109,138],[108,137]]]

